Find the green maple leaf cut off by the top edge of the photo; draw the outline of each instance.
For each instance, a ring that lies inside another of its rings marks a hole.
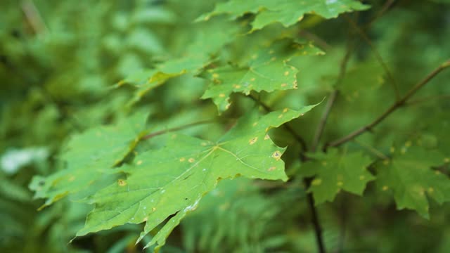
[[[201,15],[197,20],[209,20],[214,15],[228,14],[238,18],[245,13],[255,13],[252,30],[259,30],[273,22],[281,22],[285,27],[302,20],[307,13],[314,13],[323,18],[336,18],[340,13],[364,11],[369,6],[355,0],[231,0],[217,4],[214,11]]]

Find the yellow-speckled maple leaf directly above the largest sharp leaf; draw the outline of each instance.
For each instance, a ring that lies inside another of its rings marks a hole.
[[[288,65],[294,56],[323,54],[311,44],[297,44],[289,39],[275,41],[270,46],[249,50],[239,66],[217,67],[203,77],[212,80],[202,98],[212,98],[219,113],[230,106],[233,92],[275,91],[297,89],[297,68]]]

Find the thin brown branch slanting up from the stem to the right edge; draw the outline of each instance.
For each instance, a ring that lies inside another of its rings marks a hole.
[[[326,148],[335,147],[335,146],[341,145],[343,143],[346,143],[347,141],[351,141],[356,136],[359,136],[359,135],[365,133],[366,131],[370,131],[371,129],[373,129],[374,126],[376,126],[380,122],[382,122],[383,119],[385,119],[387,116],[389,116],[392,112],[394,112],[395,110],[404,106],[406,104],[406,101],[409,100],[409,98],[411,98],[411,96],[413,96],[414,93],[416,93],[420,88],[425,86],[425,84],[428,84],[428,82],[430,82],[431,79],[436,77],[437,74],[439,74],[439,72],[446,69],[447,67],[450,67],[450,60],[447,60],[445,63],[442,63],[441,65],[439,65],[439,67],[437,67],[430,74],[428,74],[428,76],[425,77],[425,79],[423,79],[422,81],[418,82],[418,84],[413,86],[413,88],[411,88],[403,98],[401,98],[400,100],[397,100],[393,105],[390,106],[390,108],[388,108],[385,112],[383,112],[383,114],[380,115],[380,117],[375,119],[373,122],[371,122],[370,124],[366,124],[366,126],[363,126],[360,129],[356,129],[356,131],[353,131],[352,133],[348,134],[347,136],[344,136],[336,141],[332,141],[332,142],[328,143],[328,145],[326,145]]]

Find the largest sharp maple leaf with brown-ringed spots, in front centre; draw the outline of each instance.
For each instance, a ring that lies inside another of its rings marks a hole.
[[[158,244],[158,249],[186,213],[195,209],[220,179],[245,176],[286,181],[288,177],[281,160],[285,148],[277,147],[267,131],[300,117],[314,106],[301,110],[286,108],[264,116],[252,112],[214,142],[168,134],[165,148],[139,154],[133,164],[122,167],[129,175],[127,178],[119,179],[89,199],[96,207],[77,236],[145,221],[141,240],[174,215],[146,245]]]

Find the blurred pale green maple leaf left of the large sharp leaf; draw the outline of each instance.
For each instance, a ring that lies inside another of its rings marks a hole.
[[[136,112],[117,125],[74,135],[60,157],[67,167],[48,177],[34,176],[30,183],[36,191],[34,197],[47,199],[41,208],[89,186],[101,188],[114,181],[117,175],[111,168],[120,164],[146,134],[147,117],[148,113]]]

